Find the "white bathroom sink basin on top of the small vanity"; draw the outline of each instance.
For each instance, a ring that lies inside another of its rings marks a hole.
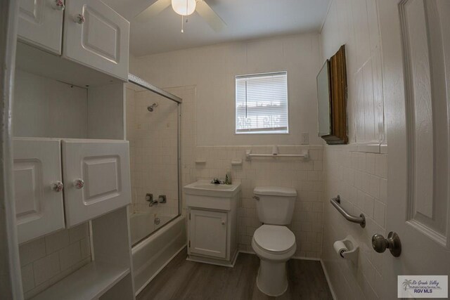
[[[210,181],[200,180],[184,187],[186,195],[233,197],[240,191],[240,183],[214,184]]]

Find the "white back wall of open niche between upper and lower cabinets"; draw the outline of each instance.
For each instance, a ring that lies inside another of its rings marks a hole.
[[[13,135],[87,137],[87,89],[15,72]]]

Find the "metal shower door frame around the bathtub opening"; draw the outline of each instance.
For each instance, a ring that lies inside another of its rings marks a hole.
[[[177,144],[176,145],[176,152],[177,152],[176,159],[177,159],[177,171],[178,171],[178,176],[177,176],[178,214],[172,220],[165,223],[164,226],[160,227],[160,228],[163,228],[168,223],[174,221],[174,219],[181,216],[181,103],[183,103],[183,99],[179,98],[178,96],[175,96],[172,93],[164,91],[163,89],[160,89],[157,86],[154,86],[153,84],[150,84],[149,82],[147,82],[147,81],[143,80],[142,78],[137,77],[136,75],[131,74],[131,73],[128,74],[128,82],[130,82],[131,84],[136,84],[136,86],[140,86],[141,88],[146,89],[147,91],[151,91],[151,92],[156,93],[164,98],[167,98],[167,99],[173,101],[174,103],[176,103],[176,106],[177,106],[178,126],[176,127],[176,144]],[[159,230],[160,228],[158,228],[157,230]],[[152,233],[150,233],[150,235],[155,233],[155,231],[157,231],[157,230],[154,230]],[[148,236],[149,235],[147,235],[143,240],[145,240]],[[139,242],[141,242],[141,241],[139,241]],[[136,244],[139,244],[139,242],[137,242]]]

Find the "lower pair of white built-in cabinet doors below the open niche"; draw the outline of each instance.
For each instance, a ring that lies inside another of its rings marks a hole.
[[[13,157],[20,243],[131,202],[128,141],[14,138]]]

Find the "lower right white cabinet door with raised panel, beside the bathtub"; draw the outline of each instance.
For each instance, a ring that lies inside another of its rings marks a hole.
[[[128,141],[63,141],[68,227],[131,202]]]

